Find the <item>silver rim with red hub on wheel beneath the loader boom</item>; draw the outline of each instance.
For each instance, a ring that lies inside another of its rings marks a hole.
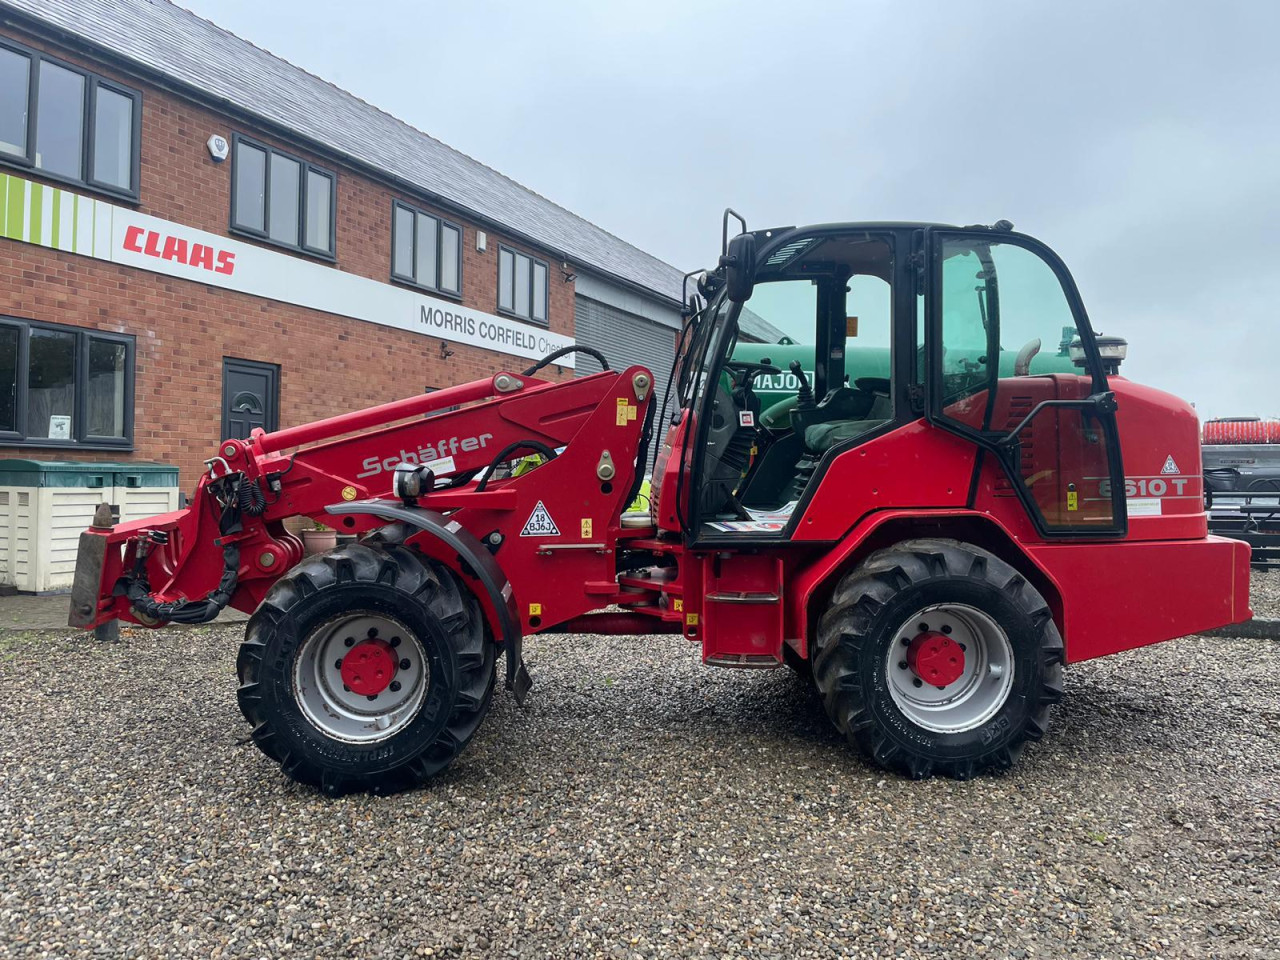
[[[380,613],[344,613],[321,623],[293,662],[302,714],[325,736],[353,744],[404,730],[421,710],[430,680],[422,641]]]

